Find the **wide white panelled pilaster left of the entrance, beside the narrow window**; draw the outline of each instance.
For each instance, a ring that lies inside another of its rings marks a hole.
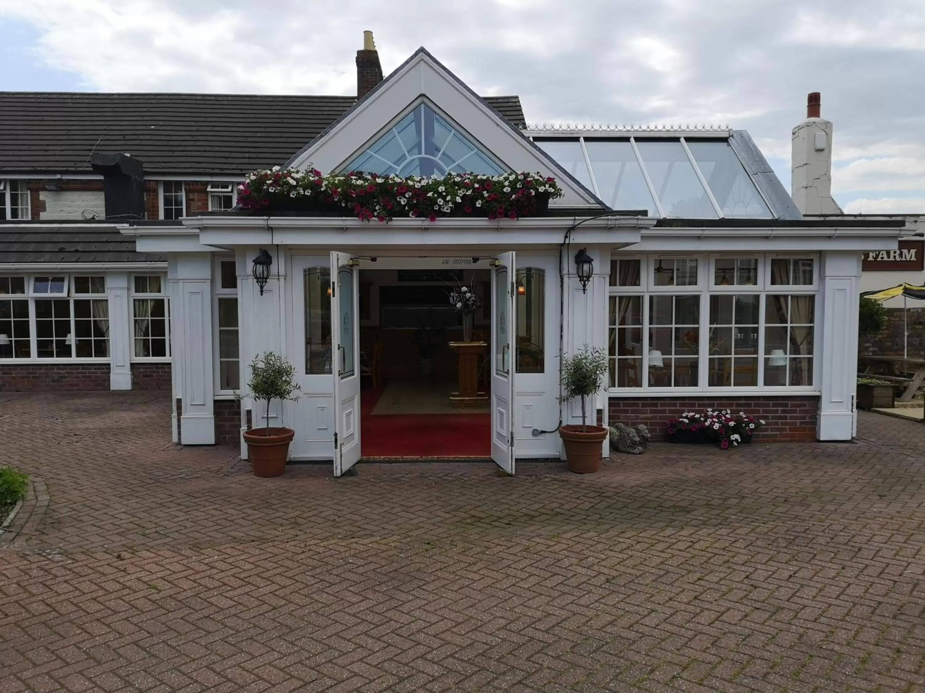
[[[173,334],[171,346],[174,367],[182,364],[175,379],[182,398],[180,441],[184,445],[211,445],[216,442],[212,256],[184,253],[175,257],[177,270],[172,308],[173,325],[179,329]]]

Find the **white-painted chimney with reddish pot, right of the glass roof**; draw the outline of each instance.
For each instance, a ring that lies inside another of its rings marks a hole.
[[[832,197],[832,123],[820,117],[820,93],[807,97],[807,119],[791,138],[790,194],[804,214],[841,214]]]

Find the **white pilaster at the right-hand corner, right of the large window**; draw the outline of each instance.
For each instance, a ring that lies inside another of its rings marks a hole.
[[[820,312],[816,339],[820,343],[820,441],[849,441],[856,432],[857,310],[860,301],[861,255],[824,252],[820,273]]]

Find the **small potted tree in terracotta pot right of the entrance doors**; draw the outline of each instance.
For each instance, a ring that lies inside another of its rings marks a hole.
[[[562,358],[561,399],[569,402],[581,397],[581,426],[559,427],[569,471],[590,474],[600,468],[600,446],[608,435],[603,426],[588,425],[587,397],[600,390],[609,363],[602,349],[585,347],[571,357]]]

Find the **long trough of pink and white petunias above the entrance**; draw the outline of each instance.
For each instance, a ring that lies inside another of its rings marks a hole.
[[[501,176],[450,173],[442,178],[379,176],[351,171],[322,175],[314,168],[254,171],[238,186],[244,210],[260,213],[339,213],[380,222],[395,217],[475,216],[518,219],[547,213],[561,198],[554,178],[532,173]]]

